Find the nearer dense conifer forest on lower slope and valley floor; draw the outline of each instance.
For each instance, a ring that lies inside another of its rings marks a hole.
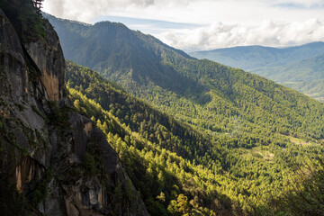
[[[195,130],[71,61],[67,87],[76,109],[119,153],[152,215],[290,211],[278,200],[294,189],[294,171],[322,150],[286,135],[253,146],[243,136]],[[247,136],[259,135],[252,130]]]

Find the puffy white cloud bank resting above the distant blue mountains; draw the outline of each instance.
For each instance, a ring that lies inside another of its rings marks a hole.
[[[293,23],[265,20],[258,27],[212,23],[208,27],[173,30],[155,36],[187,51],[247,45],[284,47],[324,40],[324,22],[319,19]]]

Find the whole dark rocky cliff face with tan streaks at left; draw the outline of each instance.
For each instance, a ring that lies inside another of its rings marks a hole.
[[[0,9],[0,214],[148,215],[103,132],[65,97],[56,32],[41,20],[44,38],[18,35],[23,3],[1,5],[12,7]]]

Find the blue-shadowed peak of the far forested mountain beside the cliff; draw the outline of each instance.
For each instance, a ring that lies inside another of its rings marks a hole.
[[[162,58],[156,58],[163,55],[164,49],[184,58],[191,57],[181,50],[163,45],[152,36],[130,31],[121,23],[103,22],[90,26],[59,20],[47,14],[45,17],[53,23],[58,34],[62,33],[60,40],[64,44],[65,57],[82,66],[101,71],[106,77],[121,79],[121,76],[128,74],[139,83],[149,80],[175,91],[180,90],[178,80],[192,85],[190,79],[175,73],[172,67],[161,64]],[[102,45],[103,41],[107,41],[105,46]],[[154,49],[151,49],[152,45]]]

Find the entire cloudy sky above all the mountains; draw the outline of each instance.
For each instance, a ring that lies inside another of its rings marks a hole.
[[[324,41],[324,0],[45,0],[43,11],[112,21],[185,51]]]

